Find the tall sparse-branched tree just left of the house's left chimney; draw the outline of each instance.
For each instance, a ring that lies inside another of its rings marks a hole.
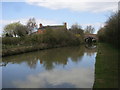
[[[34,28],[37,27],[35,18],[30,18],[27,22],[27,27],[29,29],[29,34],[31,34]]]

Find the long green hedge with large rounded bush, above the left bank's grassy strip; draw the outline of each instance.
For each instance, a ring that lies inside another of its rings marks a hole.
[[[82,42],[82,38],[67,30],[48,29],[43,34],[33,34],[25,37],[3,37],[2,42],[5,48],[5,45],[7,45],[7,48],[8,46],[13,48],[16,46],[34,46],[43,43],[50,47],[56,47],[79,45]]]

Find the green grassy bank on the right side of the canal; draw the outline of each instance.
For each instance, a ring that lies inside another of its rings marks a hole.
[[[98,44],[93,88],[118,88],[118,55],[109,44]]]

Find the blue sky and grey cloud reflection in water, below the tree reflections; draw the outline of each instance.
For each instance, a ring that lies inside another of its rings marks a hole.
[[[94,64],[96,53],[84,53],[74,62],[68,57],[67,64],[55,64],[51,70],[46,70],[40,61],[35,68],[30,68],[25,62],[7,64],[3,67],[3,87],[16,88],[92,88],[94,83]],[[9,76],[10,77],[9,77]]]

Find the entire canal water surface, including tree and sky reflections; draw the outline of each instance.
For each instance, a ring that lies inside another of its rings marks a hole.
[[[2,58],[2,88],[92,88],[96,46],[54,48]]]

